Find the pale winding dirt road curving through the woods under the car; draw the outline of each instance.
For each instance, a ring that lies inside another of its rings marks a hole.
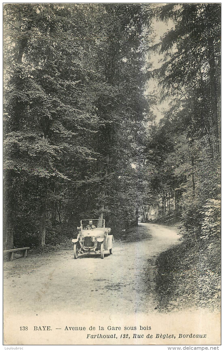
[[[113,254],[83,255],[77,260],[71,250],[30,255],[5,263],[5,313],[82,311],[108,313],[152,312],[155,259],[178,243],[172,227],[146,226],[150,239],[116,242]]]

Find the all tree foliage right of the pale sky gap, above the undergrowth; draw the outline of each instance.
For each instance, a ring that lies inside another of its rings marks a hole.
[[[151,127],[146,159],[161,174],[159,196],[170,193],[181,211],[185,237],[209,245],[220,235],[220,5],[167,4],[154,14],[173,21],[154,46],[164,58],[153,72],[171,104]]]

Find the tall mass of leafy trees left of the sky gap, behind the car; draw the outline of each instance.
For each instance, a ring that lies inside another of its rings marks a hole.
[[[71,236],[82,217],[115,227],[133,219],[125,177],[148,110],[146,23],[138,4],[5,5],[5,231],[14,245]]]

